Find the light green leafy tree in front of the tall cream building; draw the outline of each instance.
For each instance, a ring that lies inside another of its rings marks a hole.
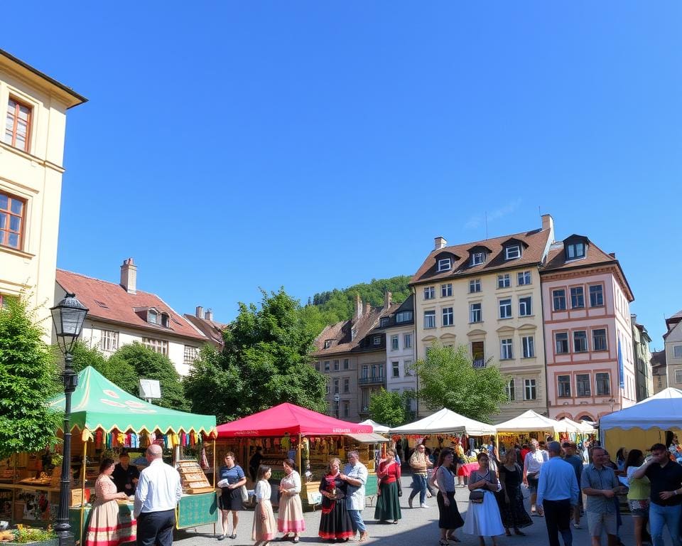
[[[499,413],[499,405],[507,402],[504,378],[499,368],[486,365],[474,368],[465,346],[435,345],[426,360],[417,360],[418,396],[432,410],[447,407],[476,419],[489,422],[490,415]]]

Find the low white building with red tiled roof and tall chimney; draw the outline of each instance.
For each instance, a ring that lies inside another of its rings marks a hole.
[[[102,281],[57,269],[55,301],[76,294],[88,311],[82,341],[109,356],[119,347],[144,344],[168,356],[180,375],[187,375],[200,347],[209,340],[156,294],[137,290],[132,258],[121,265],[121,283]]]

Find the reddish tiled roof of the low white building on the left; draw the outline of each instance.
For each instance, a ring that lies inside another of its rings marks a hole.
[[[57,269],[56,280],[65,291],[76,294],[78,300],[89,309],[88,316],[91,318],[122,323],[156,333],[207,341],[206,336],[197,332],[156,294],[140,290],[137,294],[129,294],[120,284],[85,277],[63,269]],[[168,313],[171,319],[170,328],[150,324],[135,312],[135,309],[149,307],[157,309],[160,313]]]

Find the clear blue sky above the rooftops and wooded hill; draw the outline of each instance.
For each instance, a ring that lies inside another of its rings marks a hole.
[[[662,346],[682,309],[682,4],[54,3],[0,48],[70,110],[58,266],[229,321],[259,287],[412,274],[433,237],[616,252]]]

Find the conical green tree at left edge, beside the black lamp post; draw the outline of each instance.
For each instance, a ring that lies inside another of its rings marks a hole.
[[[46,402],[62,388],[56,354],[23,299],[0,309],[0,459],[56,441],[62,416]]]

